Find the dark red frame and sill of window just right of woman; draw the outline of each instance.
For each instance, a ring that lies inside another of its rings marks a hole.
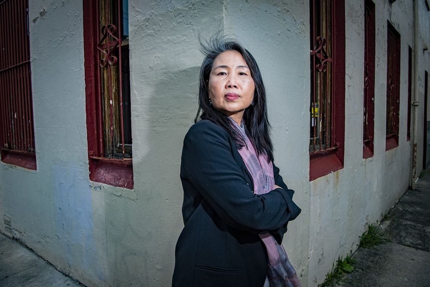
[[[310,25],[311,25],[311,57],[315,49],[316,41],[314,1],[310,0]],[[309,180],[313,181],[331,172],[340,170],[344,164],[344,142],[345,142],[345,3],[344,1],[331,2],[332,10],[332,76],[331,76],[331,138],[332,147],[318,152],[309,152]],[[311,59],[311,65],[312,65]],[[314,68],[311,66],[311,86],[314,78]],[[313,89],[311,88],[311,96]],[[312,102],[312,101],[311,101]],[[310,109],[312,119],[312,109]],[[309,123],[311,127],[311,122]]]

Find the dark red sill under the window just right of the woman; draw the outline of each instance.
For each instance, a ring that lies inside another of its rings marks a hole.
[[[310,155],[309,181],[343,168],[334,151]]]

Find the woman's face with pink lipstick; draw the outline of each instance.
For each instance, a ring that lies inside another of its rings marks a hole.
[[[209,74],[209,98],[215,109],[240,124],[254,90],[251,71],[238,51],[228,50],[216,56]]]

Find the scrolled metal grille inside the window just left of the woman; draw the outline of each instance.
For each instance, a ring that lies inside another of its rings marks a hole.
[[[131,160],[127,0],[99,0],[98,7],[98,156]]]

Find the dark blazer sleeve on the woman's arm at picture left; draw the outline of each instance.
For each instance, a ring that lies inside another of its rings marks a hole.
[[[229,135],[215,123],[193,125],[184,140],[181,177],[193,184],[227,225],[253,233],[282,228],[291,218],[291,194],[280,188],[253,194],[233,149]]]

